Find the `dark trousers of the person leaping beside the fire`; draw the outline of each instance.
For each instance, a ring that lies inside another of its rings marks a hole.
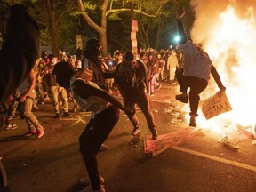
[[[199,94],[207,87],[208,82],[205,79],[196,76],[183,76],[183,69],[178,68],[175,72],[178,83],[180,85],[180,92],[187,92],[190,88],[188,98],[190,107],[190,116],[198,116],[197,110],[199,105]]]

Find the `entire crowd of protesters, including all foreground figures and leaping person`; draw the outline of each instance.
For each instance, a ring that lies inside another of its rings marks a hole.
[[[91,186],[85,187],[83,191],[105,192],[104,179],[98,171],[96,155],[100,148],[104,147],[103,142],[118,122],[119,109],[129,117],[133,125],[131,134],[136,136],[140,132],[140,121],[136,116],[135,108],[135,105],[138,105],[147,120],[152,140],[156,140],[158,133],[148,96],[154,96],[163,82],[175,84],[175,78],[177,78],[182,94],[176,95],[176,100],[184,103],[189,101],[190,126],[196,126],[199,94],[206,88],[210,73],[218,84],[220,92],[226,90],[208,54],[188,40],[180,20],[185,14],[183,9],[176,12],[176,20],[181,34],[180,49],[183,49],[184,55],[178,48],[172,49],[171,46],[169,50],[156,51],[148,48],[140,49],[138,53],[116,50],[103,58],[100,56],[99,39],[90,39],[85,50],[78,48],[76,55],[61,51],[58,55],[54,55],[43,51],[37,60],[39,28],[36,22],[29,16],[24,6],[12,6],[11,13],[10,23],[7,25],[8,36],[1,50],[3,54],[0,55],[1,61],[8,64],[2,66],[2,76],[8,78],[2,78],[7,81],[1,82],[0,86],[2,92],[0,128],[1,130],[17,129],[18,124],[11,124],[9,121],[18,118],[16,113],[18,110],[20,119],[24,119],[28,124],[28,132],[25,132],[24,136],[34,135],[40,139],[44,136],[45,128],[33,113],[33,108],[40,110],[44,108],[45,102],[51,102],[52,112],[54,111],[55,114],[53,117],[65,118],[70,116],[68,100],[72,100],[74,112],[79,105],[81,111],[91,111],[90,122],[79,137],[80,150],[91,181]],[[27,24],[21,29],[29,34],[26,40],[34,43],[31,47],[24,46],[28,44],[24,44],[23,36],[14,38],[16,35],[13,31],[16,33],[21,27],[20,21],[14,22],[15,25],[13,25],[13,20],[17,19]],[[10,45],[11,48],[13,45],[12,39],[16,41],[16,48],[20,48],[20,50],[14,49],[17,50],[14,53],[24,56],[22,58],[18,55],[15,59],[24,60],[15,62],[11,60],[13,63],[6,60],[12,50],[10,49]],[[31,53],[30,57],[26,54],[26,50]],[[198,51],[200,54],[197,54]],[[194,62],[198,65],[193,65]],[[20,71],[17,70],[19,67]],[[197,71],[200,71],[199,75]],[[17,72],[20,74],[24,72],[24,74],[20,76]],[[17,76],[14,76],[14,73]],[[11,76],[13,79],[10,78]],[[120,91],[124,105],[111,95],[115,88]],[[8,96],[9,100],[6,100]]]

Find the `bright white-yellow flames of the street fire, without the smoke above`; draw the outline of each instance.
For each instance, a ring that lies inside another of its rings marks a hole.
[[[213,65],[217,68],[222,83],[227,87],[226,94],[233,108],[232,111],[214,117],[214,121],[199,118],[200,126],[211,127],[223,132],[223,126],[235,129],[242,126],[254,129],[256,122],[256,25],[252,7],[247,8],[243,18],[236,14],[236,9],[228,5],[219,16],[208,20],[211,28],[202,28],[198,21],[193,37],[204,41],[204,50],[209,53]],[[200,22],[200,21],[199,21]],[[209,25],[209,24],[208,24]],[[195,26],[194,26],[195,27]],[[194,28],[193,28],[194,29]],[[202,33],[205,33],[202,36]],[[195,36],[198,35],[198,36]],[[214,80],[211,80],[212,82]],[[215,83],[210,83],[210,85]],[[208,90],[208,91],[207,91]],[[201,95],[207,99],[214,92],[207,88]],[[201,115],[203,116],[204,115]],[[238,125],[237,125],[238,124]]]

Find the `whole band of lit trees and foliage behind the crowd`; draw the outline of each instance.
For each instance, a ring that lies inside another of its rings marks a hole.
[[[6,0],[7,1],[7,0]],[[175,9],[189,0],[10,0],[25,4],[41,30],[41,44],[75,50],[76,34],[100,37],[103,55],[116,49],[131,50],[131,20],[139,21],[138,47],[168,48],[176,35]],[[77,4],[78,3],[78,4]],[[186,12],[187,14],[187,12]],[[191,14],[192,15],[192,14]],[[191,28],[193,17],[186,17]],[[108,40],[108,41],[107,41]]]

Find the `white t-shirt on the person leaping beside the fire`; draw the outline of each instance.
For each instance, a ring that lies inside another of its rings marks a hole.
[[[184,76],[196,76],[208,81],[212,68],[209,55],[189,39],[186,44],[179,44],[179,46],[184,57]]]

